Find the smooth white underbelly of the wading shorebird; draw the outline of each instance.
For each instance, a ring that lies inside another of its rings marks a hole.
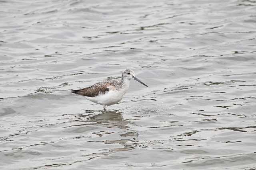
[[[95,96],[95,97],[87,97],[86,96],[86,98],[88,100],[90,100],[91,102],[101,104],[101,105],[110,106],[112,104],[116,104],[116,103],[120,102],[120,100],[122,100],[124,93],[120,92],[120,91],[113,90],[113,91],[109,91],[103,95],[99,95],[99,96]]]

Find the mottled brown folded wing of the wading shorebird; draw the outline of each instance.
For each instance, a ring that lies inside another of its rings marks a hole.
[[[72,93],[79,94],[82,96],[88,96],[88,97],[95,97],[100,94],[105,94],[106,92],[109,91],[108,89],[109,84],[94,84],[93,86],[78,89],[78,90],[72,90]]]

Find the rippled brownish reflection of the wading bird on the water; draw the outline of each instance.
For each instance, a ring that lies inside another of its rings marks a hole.
[[[68,127],[83,127],[85,130],[84,133],[98,135],[102,137],[102,141],[109,142],[110,136],[106,134],[113,134],[115,135],[114,139],[116,139],[116,143],[120,143],[120,141],[122,141],[122,143],[124,141],[129,141],[129,143],[132,142],[134,145],[138,144],[138,131],[134,131],[129,127],[129,124],[133,124],[131,119],[124,119],[122,112],[120,111],[103,112],[95,110],[84,110],[83,113],[76,114],[75,116],[73,115],[73,118],[69,119],[76,121],[78,124]],[[88,129],[86,127],[88,127]],[[111,140],[113,139],[113,135],[111,136]]]

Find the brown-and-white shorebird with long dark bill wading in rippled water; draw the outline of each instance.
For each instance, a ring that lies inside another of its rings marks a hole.
[[[104,80],[90,87],[72,90],[71,92],[85,96],[86,99],[90,100],[91,102],[101,104],[104,111],[106,111],[107,106],[117,104],[120,102],[120,100],[122,100],[122,97],[129,88],[131,79],[134,79],[144,86],[147,86],[138,78],[136,78],[133,70],[126,69],[122,73],[121,78]]]

